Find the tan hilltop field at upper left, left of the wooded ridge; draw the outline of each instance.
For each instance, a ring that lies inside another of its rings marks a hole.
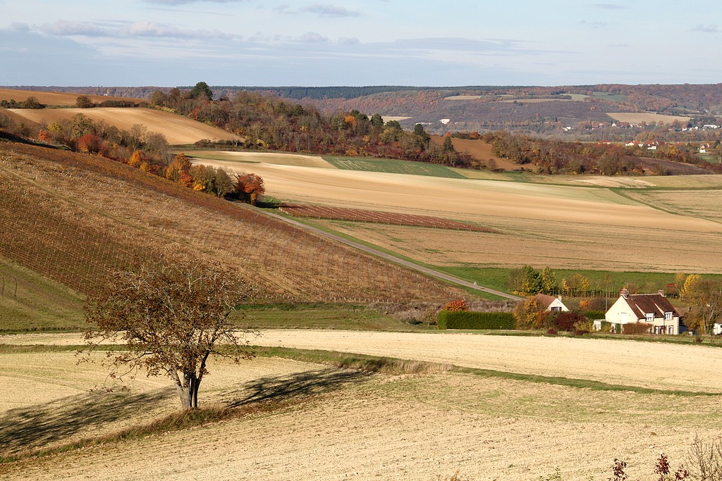
[[[214,141],[237,138],[232,133],[220,128],[161,110],[96,107],[91,109],[13,109],[11,111],[36,123],[69,120],[73,115],[82,113],[92,120],[103,120],[108,125],[115,125],[121,130],[130,130],[135,124],[146,125],[148,131],[162,133],[168,144],[193,144],[204,138]]]

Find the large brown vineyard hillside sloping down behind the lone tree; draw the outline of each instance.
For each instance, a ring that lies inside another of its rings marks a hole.
[[[0,256],[90,294],[137,257],[221,262],[263,299],[445,301],[457,291],[98,156],[0,143]]]

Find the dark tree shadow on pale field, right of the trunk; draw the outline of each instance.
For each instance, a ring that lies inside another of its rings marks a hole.
[[[341,389],[346,384],[365,381],[370,373],[346,369],[318,369],[288,376],[266,376],[247,382],[229,394],[228,407],[240,407],[251,402],[284,401],[310,397]]]

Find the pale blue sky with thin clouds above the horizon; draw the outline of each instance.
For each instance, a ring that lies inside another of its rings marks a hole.
[[[0,85],[717,84],[716,0],[0,0]]]

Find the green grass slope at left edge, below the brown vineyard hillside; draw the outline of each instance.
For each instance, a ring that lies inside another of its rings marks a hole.
[[[0,257],[0,331],[85,326],[79,294]]]

